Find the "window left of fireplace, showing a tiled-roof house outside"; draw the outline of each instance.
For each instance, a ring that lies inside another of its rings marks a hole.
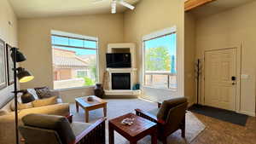
[[[97,38],[51,32],[54,89],[95,85]]]

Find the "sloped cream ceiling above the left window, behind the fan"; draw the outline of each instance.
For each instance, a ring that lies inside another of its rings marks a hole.
[[[139,0],[125,0],[136,4]],[[9,0],[19,19],[79,14],[111,14],[112,0]],[[126,10],[118,6],[117,12]]]

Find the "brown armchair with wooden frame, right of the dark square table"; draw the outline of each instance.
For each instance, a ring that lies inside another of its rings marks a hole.
[[[186,98],[175,98],[159,104],[159,108],[150,112],[136,109],[137,116],[147,118],[157,124],[158,139],[166,144],[167,136],[176,130],[182,130],[185,137],[185,113],[188,107]]]

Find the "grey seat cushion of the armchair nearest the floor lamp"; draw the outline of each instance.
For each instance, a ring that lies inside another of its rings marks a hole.
[[[73,122],[70,124],[71,129],[73,130],[73,134],[75,136],[80,135],[84,130],[90,127],[91,124],[89,123],[79,123],[79,122]]]

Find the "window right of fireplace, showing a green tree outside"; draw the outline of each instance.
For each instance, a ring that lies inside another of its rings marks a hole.
[[[177,89],[176,37],[167,29],[143,37],[144,86]]]

